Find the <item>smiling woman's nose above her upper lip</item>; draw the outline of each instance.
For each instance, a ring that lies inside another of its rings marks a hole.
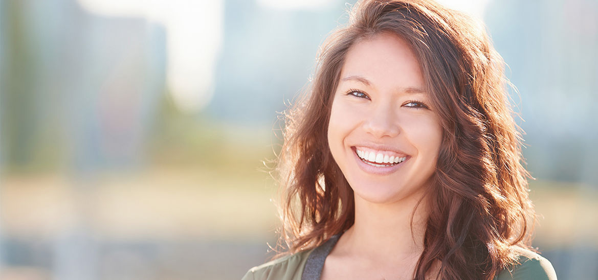
[[[400,133],[396,113],[392,106],[376,106],[364,122],[365,132],[376,138],[395,137]]]

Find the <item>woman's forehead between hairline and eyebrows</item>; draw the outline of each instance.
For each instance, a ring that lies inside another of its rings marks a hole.
[[[350,76],[363,77],[376,87],[425,87],[422,67],[410,45],[390,33],[364,39],[349,48],[341,82]]]

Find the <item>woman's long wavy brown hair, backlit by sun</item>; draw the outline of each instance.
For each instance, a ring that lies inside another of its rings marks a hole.
[[[347,51],[382,32],[410,44],[443,127],[414,278],[425,279],[440,261],[440,279],[492,279],[514,263],[512,247],[527,248],[535,222],[521,130],[504,62],[484,27],[429,0],[363,1],[322,45],[309,90],[285,115],[277,171],[286,253],[317,247],[353,224],[353,191],[332,159],[328,121]]]

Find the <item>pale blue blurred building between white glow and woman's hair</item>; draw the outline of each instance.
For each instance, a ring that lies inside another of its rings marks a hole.
[[[348,19],[343,11],[350,6],[331,2],[319,10],[286,10],[255,0],[225,1],[210,115],[243,124],[273,124],[276,112],[287,109],[307,85],[318,45]]]

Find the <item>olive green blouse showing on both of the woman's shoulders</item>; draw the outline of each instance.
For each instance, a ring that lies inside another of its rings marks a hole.
[[[270,261],[269,263],[264,263],[261,266],[253,267],[243,276],[242,280],[318,280],[322,267],[324,267],[324,259],[331,248],[334,247],[335,241],[326,242],[312,250],[295,253]],[[521,248],[517,248],[516,250],[519,254],[518,264],[510,267],[508,270],[502,270],[496,276],[496,280],[557,280],[556,273],[550,261],[529,250]],[[323,257],[310,257],[312,253],[314,256],[323,255]],[[306,267],[306,263],[308,267]]]

